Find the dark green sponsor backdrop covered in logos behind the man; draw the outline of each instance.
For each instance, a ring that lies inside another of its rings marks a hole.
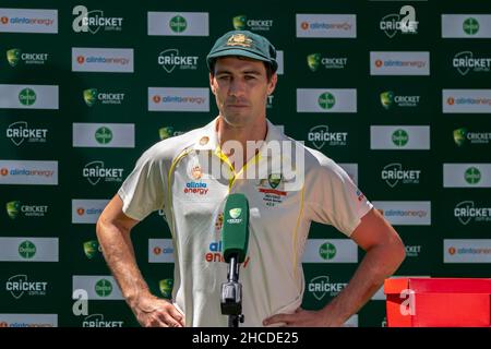
[[[95,222],[146,148],[217,115],[205,57],[233,28],[278,50],[270,120],[340,164],[400,233],[396,276],[491,275],[491,2],[3,1],[0,326],[137,326]],[[132,237],[170,298],[165,217]],[[313,224],[303,308],[338,294],[363,254]],[[346,325],[386,326],[384,299]]]

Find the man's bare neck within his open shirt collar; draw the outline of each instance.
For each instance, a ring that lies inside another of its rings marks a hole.
[[[242,165],[252,158],[259,149],[259,146],[256,146],[253,151],[251,149],[252,152],[248,152],[248,141],[264,141],[267,133],[267,123],[265,118],[260,122],[254,122],[250,125],[233,127],[225,122],[224,118],[220,116],[216,128],[220,148],[227,156],[229,156],[229,159],[235,168],[242,168]],[[228,141],[235,142],[227,143]],[[236,142],[241,144],[243,149],[242,154],[233,154],[231,151],[231,148],[237,146],[233,145]],[[230,157],[232,154],[233,156]]]

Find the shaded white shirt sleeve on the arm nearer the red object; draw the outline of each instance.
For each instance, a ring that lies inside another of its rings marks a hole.
[[[325,156],[318,160],[306,182],[308,216],[350,237],[373,205],[343,168]]]

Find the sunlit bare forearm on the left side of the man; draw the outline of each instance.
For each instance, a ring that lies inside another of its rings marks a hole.
[[[127,302],[132,305],[140,296],[149,293],[136,265],[130,231],[101,221],[97,224],[97,237],[106,262]]]

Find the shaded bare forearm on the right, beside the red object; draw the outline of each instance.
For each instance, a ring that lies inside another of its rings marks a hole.
[[[342,326],[371,299],[404,260],[397,251],[379,245],[367,252],[347,287],[321,311],[327,326]]]

